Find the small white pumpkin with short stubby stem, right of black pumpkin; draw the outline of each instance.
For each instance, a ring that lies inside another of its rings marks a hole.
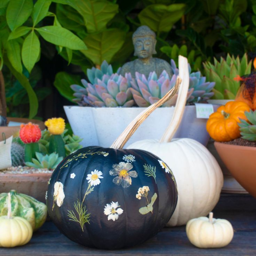
[[[233,227],[226,219],[207,217],[191,219],[186,225],[189,241],[199,248],[220,248],[228,245],[234,235]]]

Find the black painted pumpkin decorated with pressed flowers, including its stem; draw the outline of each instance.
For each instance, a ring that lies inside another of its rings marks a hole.
[[[54,170],[47,191],[48,213],[59,230],[88,247],[131,247],[155,235],[177,203],[171,170],[143,150],[122,149],[140,123],[172,97],[176,85],[140,114],[110,148],[85,147]]]

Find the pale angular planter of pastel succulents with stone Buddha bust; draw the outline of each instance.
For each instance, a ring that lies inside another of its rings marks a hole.
[[[137,35],[138,30],[141,31],[141,35]],[[154,32],[147,26],[139,27],[137,31],[134,33],[135,36],[133,35],[133,42],[138,59],[126,63],[116,73],[113,73],[112,66],[104,61],[100,69],[87,69],[89,81],[82,79],[83,86],[71,85],[74,90],[74,101],[79,106],[64,106],[64,109],[75,134],[84,138],[83,146],[109,145],[115,135],[120,134],[136,115],[162,98],[175,84],[179,73],[175,62],[171,60],[170,65],[166,61],[152,57],[156,43]],[[144,40],[141,39],[143,36],[151,38],[151,41],[150,46],[143,46],[146,50],[141,51],[139,44]],[[144,66],[140,64],[143,61],[153,62],[155,71],[143,71]],[[202,77],[200,71],[191,73],[190,67],[189,73],[187,107],[175,137],[191,137],[206,145],[209,139],[205,130],[206,120],[196,118],[195,106],[192,104],[206,102],[213,96],[211,90],[215,83],[206,82],[206,77]],[[174,111],[172,106],[175,105],[176,99],[177,95],[157,109],[139,127],[126,146],[139,139],[159,139],[171,120]]]

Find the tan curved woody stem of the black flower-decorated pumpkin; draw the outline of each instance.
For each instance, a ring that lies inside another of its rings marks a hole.
[[[185,59],[185,58],[184,58]],[[135,133],[137,128],[141,125],[141,123],[157,108],[160,107],[163,103],[168,101],[171,97],[173,97],[179,88],[179,84],[181,83],[181,78],[177,77],[175,86],[168,91],[168,93],[163,96],[159,101],[155,102],[151,106],[147,107],[142,113],[137,115],[137,117],[130,122],[130,124],[126,127],[126,129],[119,135],[119,137],[114,141],[114,143],[110,146],[112,149],[122,149],[128,139]]]

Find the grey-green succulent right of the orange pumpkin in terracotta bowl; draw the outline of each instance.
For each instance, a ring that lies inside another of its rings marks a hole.
[[[245,112],[245,116],[249,122],[240,119],[241,123],[238,123],[242,139],[246,139],[247,141],[256,141],[256,110]]]

